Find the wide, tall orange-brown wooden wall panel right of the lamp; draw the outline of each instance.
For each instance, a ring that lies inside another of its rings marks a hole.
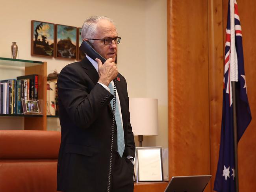
[[[167,1],[169,178],[210,174],[207,10],[205,0]]]

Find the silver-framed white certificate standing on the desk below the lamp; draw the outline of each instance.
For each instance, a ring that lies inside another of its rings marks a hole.
[[[137,182],[163,181],[161,147],[136,147]]]

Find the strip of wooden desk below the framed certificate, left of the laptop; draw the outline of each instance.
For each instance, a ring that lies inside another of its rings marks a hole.
[[[168,182],[134,183],[134,192],[164,192]]]

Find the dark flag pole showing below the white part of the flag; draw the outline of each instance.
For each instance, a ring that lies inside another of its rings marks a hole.
[[[238,183],[238,155],[237,155],[237,119],[236,119],[236,82],[232,81],[232,98],[233,98],[233,127],[234,127],[234,156],[235,156],[235,183],[236,192],[239,192]]]

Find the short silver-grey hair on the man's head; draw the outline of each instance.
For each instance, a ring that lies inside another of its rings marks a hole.
[[[111,18],[106,16],[91,16],[88,17],[83,23],[81,37],[82,39],[93,39],[97,32],[97,22],[99,20],[106,19],[109,20],[112,24],[115,25],[114,21]],[[89,42],[94,42],[94,40],[88,40]]]

